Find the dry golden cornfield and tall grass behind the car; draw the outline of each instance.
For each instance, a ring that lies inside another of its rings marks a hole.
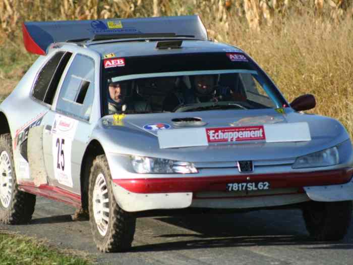
[[[23,21],[199,14],[210,38],[246,50],[284,96],[312,93],[317,114],[353,133],[353,0],[0,0],[0,98],[36,56]]]

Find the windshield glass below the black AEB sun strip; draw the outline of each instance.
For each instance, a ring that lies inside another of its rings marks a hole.
[[[106,114],[282,108],[285,101],[273,83],[250,60],[246,63],[231,64],[234,69],[130,74],[109,69],[103,82]]]

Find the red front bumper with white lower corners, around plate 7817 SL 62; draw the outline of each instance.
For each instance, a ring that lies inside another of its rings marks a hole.
[[[126,211],[192,207],[254,208],[307,200],[353,200],[352,168],[219,177],[113,179],[117,203]],[[227,183],[263,182],[268,191],[227,192]]]

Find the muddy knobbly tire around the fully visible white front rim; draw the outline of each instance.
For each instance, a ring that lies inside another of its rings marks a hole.
[[[109,219],[107,232],[104,236],[99,233],[93,214],[93,190],[96,179],[100,174],[103,174],[105,178],[108,191],[107,198],[109,199],[109,202],[107,202],[109,207]],[[132,213],[123,210],[116,203],[111,181],[111,174],[105,155],[96,156],[90,171],[88,192],[89,222],[93,240],[97,248],[102,252],[122,252],[131,248],[136,228],[136,217]]]

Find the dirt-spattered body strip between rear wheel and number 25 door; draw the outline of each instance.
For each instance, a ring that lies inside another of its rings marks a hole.
[[[47,184],[43,153],[43,127],[32,127],[28,132],[27,155],[30,175],[35,186]]]

